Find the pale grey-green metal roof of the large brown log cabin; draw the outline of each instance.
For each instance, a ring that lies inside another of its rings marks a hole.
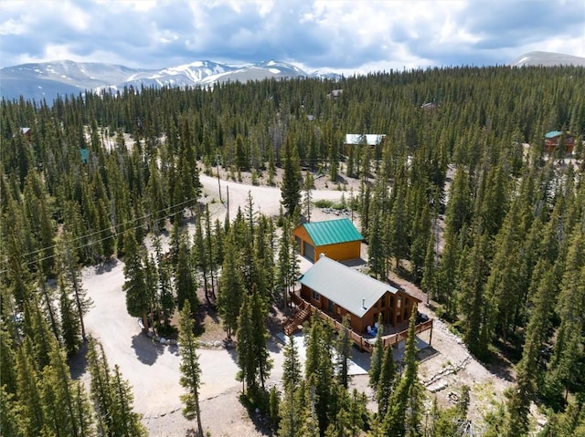
[[[386,293],[396,294],[394,286],[322,256],[299,282],[357,317],[364,317],[379,298]]]

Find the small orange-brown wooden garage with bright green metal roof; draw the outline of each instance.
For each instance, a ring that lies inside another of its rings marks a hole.
[[[293,235],[301,255],[312,262],[321,254],[335,261],[361,257],[364,237],[346,218],[301,224],[294,229]]]

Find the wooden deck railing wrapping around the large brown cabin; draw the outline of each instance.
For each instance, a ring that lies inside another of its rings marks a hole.
[[[284,322],[283,328],[284,328],[284,333],[286,335],[293,334],[293,332],[299,327],[299,325],[302,324],[303,321],[306,320],[314,312],[316,312],[319,315],[319,317],[321,317],[323,320],[326,320],[327,322],[332,324],[337,332],[340,332],[342,329],[345,329],[345,327],[341,324],[341,322],[336,320],[334,317],[331,317],[331,316],[325,314],[319,308],[315,307],[311,303],[304,300],[303,297],[297,296],[294,293],[291,293],[290,296],[291,296],[291,301],[298,307],[298,309],[297,309],[297,312],[293,315],[293,317],[289,317],[289,319],[287,319],[287,321]],[[302,319],[300,322],[297,321],[300,319]],[[431,340],[432,340],[432,318],[417,325],[415,328],[415,334],[420,334],[421,332],[424,332],[428,329],[431,329]],[[373,339],[369,339],[369,341],[368,341],[368,339],[363,338],[362,336],[357,334],[356,331],[354,331],[353,329],[348,329],[348,330],[349,330],[349,337],[356,344],[357,348],[359,348],[360,350],[364,350],[366,352],[372,353],[372,351],[374,350]],[[289,331],[289,332],[287,332],[287,331]],[[408,338],[408,337],[409,337],[409,330],[408,329],[400,331],[396,334],[390,334],[388,336],[384,336],[384,337],[382,337],[382,346],[384,349],[389,348],[390,346],[394,346],[395,344],[399,343],[400,341],[406,340],[406,338]],[[431,340],[429,341],[430,344],[431,344]]]

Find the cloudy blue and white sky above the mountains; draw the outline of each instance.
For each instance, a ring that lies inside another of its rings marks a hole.
[[[2,0],[0,67],[165,68],[209,59],[352,74],[585,57],[583,0]]]

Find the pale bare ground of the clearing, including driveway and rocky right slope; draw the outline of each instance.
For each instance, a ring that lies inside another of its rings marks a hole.
[[[218,203],[218,179],[201,175],[204,198],[212,202],[212,215],[223,220],[226,207]],[[244,208],[249,196],[255,207],[262,213],[278,215],[281,192],[276,187],[254,186],[221,180],[222,189],[229,186],[229,212],[233,216],[238,208]],[[349,190],[351,187],[348,187]],[[315,190],[314,199],[339,201],[341,195],[348,196],[348,191]],[[225,198],[225,191],[224,191]],[[330,213],[314,208],[314,221],[326,220]],[[362,248],[366,253],[367,247]],[[112,265],[99,270],[90,267],[83,276],[83,284],[94,301],[86,317],[88,332],[98,338],[103,345],[108,359],[112,364],[120,365],[122,374],[133,386],[134,405],[136,411],[144,414],[144,424],[151,436],[184,436],[192,427],[181,415],[182,392],[178,384],[178,354],[176,346],[160,345],[141,332],[135,317],[130,317],[125,308],[122,293],[123,263],[116,261]],[[420,290],[406,281],[401,285],[409,287],[410,292],[422,295]],[[421,297],[426,298],[426,297]],[[430,308],[421,308],[429,316],[434,317]],[[206,318],[207,323],[214,323]],[[213,337],[215,334],[215,337]],[[215,329],[207,341],[221,342],[225,338],[222,329]],[[429,341],[429,333],[422,337]],[[273,336],[270,340],[271,358],[274,360],[274,371],[271,383],[278,384],[282,377],[282,340]],[[354,354],[362,355],[367,362],[367,353],[354,349]],[[202,386],[200,392],[201,414],[206,432],[212,436],[265,435],[256,429],[247,411],[239,402],[241,383],[236,380],[238,366],[233,351],[223,347],[202,348],[198,351]],[[430,355],[427,358],[425,356]],[[449,405],[449,394],[459,393],[463,384],[472,388],[470,420],[481,427],[484,413],[493,408],[491,402],[502,397],[510,381],[497,373],[490,372],[473,359],[460,338],[453,335],[444,324],[436,324],[432,333],[432,349],[422,350],[420,379],[429,382],[428,389],[433,390],[444,382],[444,388],[437,393],[443,405]],[[459,366],[459,368],[457,368]],[[453,368],[451,371],[450,369]],[[454,369],[457,368],[457,369]],[[85,377],[89,379],[89,375]],[[432,383],[431,383],[432,380]],[[366,391],[372,396],[367,386],[367,374],[356,375],[352,384],[358,390]],[[426,384],[425,384],[426,385]],[[374,402],[370,404],[374,408]]]

